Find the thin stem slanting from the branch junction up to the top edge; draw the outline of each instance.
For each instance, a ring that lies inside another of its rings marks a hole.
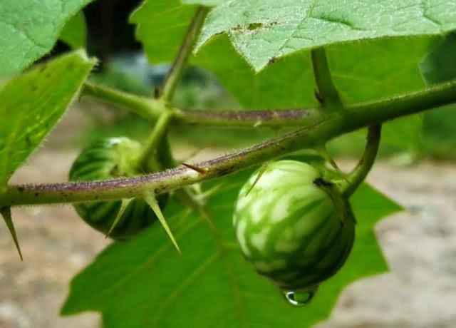
[[[175,61],[172,63],[170,72],[165,80],[163,93],[160,97],[165,101],[165,103],[170,102],[172,96],[174,96],[175,89],[182,78],[182,73],[187,67],[188,58],[190,57],[190,53],[192,53],[193,46],[197,41],[199,31],[201,31],[207,13],[209,13],[208,7],[199,6],[195,16],[193,16],[192,22],[187,30],[187,34],[185,34],[185,38],[182,41],[179,52],[177,53]]]

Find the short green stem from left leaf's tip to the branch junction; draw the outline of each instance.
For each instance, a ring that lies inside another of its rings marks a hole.
[[[128,108],[149,121],[156,121],[166,110],[165,104],[157,99],[137,96],[88,81],[83,85],[81,96],[92,96],[106,103]]]

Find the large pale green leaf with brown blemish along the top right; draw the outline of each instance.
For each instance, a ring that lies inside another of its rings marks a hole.
[[[255,71],[271,58],[333,43],[456,29],[456,3],[440,0],[234,0],[207,16],[198,47],[226,33]]]

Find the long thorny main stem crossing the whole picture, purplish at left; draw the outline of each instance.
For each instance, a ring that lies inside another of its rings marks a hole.
[[[46,185],[11,185],[0,196],[0,208],[16,205],[133,198],[148,190],[154,190],[156,194],[165,193],[182,188],[184,185],[199,183],[249,168],[295,150],[312,148],[322,140],[329,140],[359,128],[378,125],[394,118],[453,102],[456,102],[455,81],[385,101],[351,106],[345,108],[343,113],[333,112],[323,117],[321,121],[286,133],[279,138],[214,160],[197,163],[197,166],[207,169],[204,174],[181,167],[135,178]]]

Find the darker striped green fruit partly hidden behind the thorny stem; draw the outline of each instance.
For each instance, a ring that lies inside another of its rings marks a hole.
[[[71,181],[107,180],[138,175],[136,160],[141,145],[129,138],[109,138],[84,149],[70,170]],[[165,206],[167,195],[160,195],[158,203]],[[79,203],[74,207],[78,215],[96,230],[107,234],[120,210],[121,202]],[[144,200],[135,199],[125,209],[110,237],[126,240],[155,222],[157,217]]]

